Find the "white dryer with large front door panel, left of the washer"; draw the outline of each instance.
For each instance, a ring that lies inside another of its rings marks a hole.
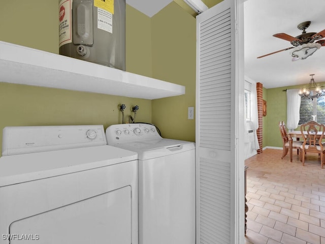
[[[0,243],[138,243],[137,172],[103,126],[6,127]]]

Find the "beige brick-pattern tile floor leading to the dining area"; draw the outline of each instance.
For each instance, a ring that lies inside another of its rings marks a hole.
[[[325,169],[317,154],[305,166],[294,152],[266,149],[245,161],[246,244],[325,244]]]

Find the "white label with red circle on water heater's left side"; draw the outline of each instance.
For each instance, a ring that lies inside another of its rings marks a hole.
[[[72,42],[71,8],[72,0],[62,0],[59,4],[59,47]]]

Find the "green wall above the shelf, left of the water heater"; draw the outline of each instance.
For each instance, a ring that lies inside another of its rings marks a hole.
[[[58,1],[2,1],[0,41],[58,53]]]

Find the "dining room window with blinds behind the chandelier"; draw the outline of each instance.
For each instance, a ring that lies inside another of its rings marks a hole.
[[[325,97],[301,99],[299,125],[313,120],[312,115],[317,115],[315,120],[319,124],[325,124]]]

